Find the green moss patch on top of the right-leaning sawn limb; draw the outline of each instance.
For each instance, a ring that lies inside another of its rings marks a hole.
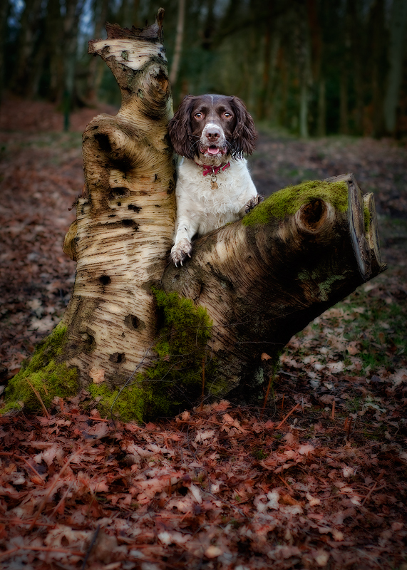
[[[324,182],[323,180],[308,180],[297,186],[287,186],[275,192],[262,204],[242,219],[242,224],[267,224],[270,219],[284,219],[295,214],[302,206],[313,199],[323,199],[331,203],[340,212],[348,209],[348,187],[346,182]]]

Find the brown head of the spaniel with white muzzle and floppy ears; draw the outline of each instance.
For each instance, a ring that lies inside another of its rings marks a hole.
[[[238,97],[187,95],[168,125],[178,155],[202,165],[251,155],[257,138],[251,115]]]

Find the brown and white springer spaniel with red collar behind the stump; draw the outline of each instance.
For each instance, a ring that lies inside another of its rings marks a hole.
[[[177,219],[171,259],[191,257],[192,237],[236,222],[264,199],[257,194],[242,155],[251,155],[257,133],[242,100],[187,95],[168,125],[178,166]]]

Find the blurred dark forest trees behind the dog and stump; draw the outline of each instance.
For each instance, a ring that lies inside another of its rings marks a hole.
[[[407,135],[406,0],[0,0],[2,95],[66,116],[120,105],[87,55],[104,23],[145,26],[165,8],[174,103],[239,95],[257,124],[307,137]]]

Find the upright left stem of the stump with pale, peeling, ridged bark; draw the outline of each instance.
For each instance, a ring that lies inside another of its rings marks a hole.
[[[98,115],[83,134],[84,196],[65,252],[77,261],[68,326],[68,363],[86,385],[120,385],[143,361],[155,336],[150,284],[167,262],[175,220],[172,114],[161,21],[138,30],[108,24],[89,52],[108,64],[123,104]],[[96,349],[95,349],[96,347]]]

